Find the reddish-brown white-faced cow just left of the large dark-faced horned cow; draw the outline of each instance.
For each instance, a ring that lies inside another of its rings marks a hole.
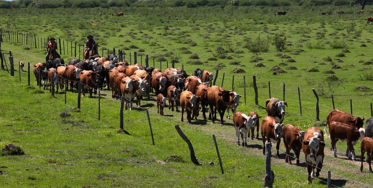
[[[181,121],[184,122],[184,111],[186,111],[186,119],[188,124],[191,124],[192,112],[199,109],[200,97],[196,97],[190,91],[183,91],[180,94],[180,106],[181,106]],[[197,116],[195,116],[197,120]]]

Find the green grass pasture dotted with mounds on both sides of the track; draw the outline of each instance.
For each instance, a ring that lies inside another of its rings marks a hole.
[[[253,8],[248,8],[247,11],[251,9]],[[232,70],[237,67],[242,68],[245,70],[244,73],[234,73],[235,91],[239,94],[244,93],[243,76],[246,77],[247,104],[244,104],[244,97],[242,97],[238,107],[240,112],[256,111],[264,116],[263,106],[269,97],[268,82],[270,81],[271,84],[272,97],[279,99],[283,97],[282,89],[285,83],[285,100],[288,101],[289,106],[286,107],[284,123],[300,126],[302,130],[313,125],[323,129],[320,122],[314,121],[316,98],[311,88],[315,88],[319,93],[320,120],[325,120],[327,113],[332,110],[331,93],[322,95],[319,85],[310,85],[307,81],[317,82],[335,75],[339,79],[344,79],[339,87],[333,89],[336,109],[350,112],[350,99],[352,99],[353,114],[370,117],[372,90],[356,91],[359,85],[372,88],[371,81],[360,79],[361,75],[369,76],[372,73],[369,71],[372,61],[369,50],[372,46],[370,40],[372,26],[365,25],[366,15],[346,14],[339,17],[333,14],[305,18],[289,12],[286,16],[274,17],[269,16],[270,12],[273,12],[271,9],[263,9],[262,14],[267,15],[259,15],[258,11],[254,12],[256,9],[249,14],[244,13],[242,7],[239,9],[226,7],[219,17],[216,16],[218,12],[216,9],[206,9],[208,13],[205,15],[201,9],[188,9],[195,12],[196,16],[185,19],[188,16],[184,9],[170,10],[165,16],[162,15],[162,10],[154,8],[142,16],[135,10],[128,9],[123,17],[104,14],[100,19],[98,18],[100,11],[96,9],[89,9],[91,13],[87,15],[82,15],[79,10],[73,9],[55,10],[53,13],[45,11],[41,15],[36,15],[37,9],[28,10],[30,15],[14,13],[2,16],[0,20],[4,22],[0,22],[3,23],[0,24],[1,28],[33,32],[40,37],[62,38],[80,43],[84,43],[85,37],[92,34],[97,43],[106,44],[100,47],[109,49],[113,47],[124,49],[131,45],[139,47],[124,50],[126,59],[129,59],[129,52],[142,49],[144,51],[138,52],[138,56],[141,54],[149,54],[150,57],[160,56],[169,63],[172,58],[176,58],[179,63],[175,66],[184,65],[188,73],[192,73],[195,68],[215,73],[216,67],[219,67],[217,65],[220,64],[223,66],[220,66],[216,85],[222,84],[223,73],[225,73],[222,85],[226,89],[232,87]],[[139,9],[139,11],[143,10]],[[72,14],[68,14],[70,11]],[[295,7],[295,11],[300,11],[300,8]],[[306,15],[312,11],[314,10],[304,10]],[[89,26],[90,22],[97,24],[98,27]],[[253,53],[244,48],[247,43],[245,37],[256,38],[260,35],[261,38],[266,38],[276,33],[287,37],[286,50],[278,52],[271,45],[268,52],[258,55],[263,60],[254,61],[258,57],[254,57]],[[119,37],[119,35],[123,36]],[[191,41],[194,41],[197,46],[191,46]],[[332,47],[340,44],[347,46]],[[365,44],[366,47],[361,44]],[[225,50],[232,47],[234,51],[222,53],[219,47]],[[25,50],[23,45],[11,41],[1,43],[1,48],[11,50],[15,62],[35,64],[43,62],[45,56],[43,50],[32,48]],[[344,53],[345,57],[336,57],[344,49],[348,49],[350,53]],[[237,53],[236,50],[242,50],[243,53]],[[193,53],[198,55],[201,65],[193,65],[195,60],[189,60]],[[295,62],[289,61],[289,58],[281,58],[278,53],[291,56]],[[216,57],[217,60],[208,60],[211,56]],[[225,58],[222,59],[224,56]],[[66,60],[69,56],[63,58]],[[255,67],[258,62],[263,63],[265,67]],[[150,65],[152,65],[151,60]],[[273,75],[276,71],[271,71],[271,68],[275,65],[286,72]],[[159,59],[156,58],[155,68],[159,66]],[[164,68],[166,64],[163,62],[162,69]],[[311,68],[318,69],[319,72],[308,72]],[[367,71],[360,71],[364,68]],[[24,70],[27,70],[26,66]],[[334,73],[331,74],[331,71]],[[179,112],[170,112],[166,108],[165,117],[157,115],[156,102],[152,96],[150,101],[144,101],[142,104],[150,111],[155,139],[155,146],[153,146],[146,112],[141,109],[135,108],[133,111],[125,112],[125,130],[131,135],[117,132],[120,103],[110,98],[109,91],[103,91],[106,95],[101,100],[101,120],[98,121],[97,98],[83,98],[81,110],[68,110],[76,106],[77,93],[68,92],[68,103],[65,105],[63,94],[51,97],[47,91],[36,88],[35,78],[32,75],[31,87],[28,87],[26,72],[22,72],[22,82],[18,81],[18,72],[15,72],[15,77],[9,76],[6,71],[0,71],[0,75],[0,82],[3,83],[0,89],[2,96],[0,145],[13,143],[21,146],[26,153],[24,156],[0,157],[0,166],[7,167],[0,168],[3,171],[0,175],[3,176],[0,178],[0,183],[4,187],[241,187],[242,185],[262,187],[263,185],[265,173],[264,156],[261,154],[260,146],[262,142],[254,139],[248,140],[250,144],[247,148],[236,146],[232,120],[225,118],[224,126],[219,126],[218,123],[211,124],[210,120],[192,121],[192,125],[186,125],[180,122]],[[258,85],[258,106],[254,105],[253,75],[256,76]],[[326,87],[326,83],[322,84]],[[302,100],[302,116],[299,112],[298,87]],[[59,114],[65,111],[71,116],[59,118]],[[175,124],[179,124],[191,140],[196,156],[203,165],[195,166],[190,162],[189,151],[175,131],[173,127]],[[217,136],[225,175],[220,174],[212,134]],[[342,155],[346,148],[345,143],[337,143],[338,158],[333,158],[331,155],[330,140],[326,140],[326,144],[323,170],[332,171],[332,184],[335,187],[372,186],[372,178],[366,168],[367,163],[364,163],[364,172],[361,173],[359,162],[352,162]],[[285,152],[283,144],[280,151]],[[355,153],[357,159],[360,159],[360,142],[355,145]],[[173,154],[181,159],[167,160],[167,157]],[[280,159],[272,158],[275,187],[308,187],[305,164],[300,167],[288,165],[284,162],[285,155],[280,154]],[[303,154],[300,159],[304,160]],[[211,161],[215,165],[210,166],[208,162]],[[327,172],[322,171],[320,177],[313,181],[312,186],[326,187],[324,182],[326,178]]]

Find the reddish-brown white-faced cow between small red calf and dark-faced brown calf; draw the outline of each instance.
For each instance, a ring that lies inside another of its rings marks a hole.
[[[263,118],[260,126],[261,137],[263,138],[263,155],[266,154],[266,141],[276,143],[277,154],[276,157],[279,158],[279,148],[280,141],[282,137],[282,126],[278,120],[272,116],[267,116]]]

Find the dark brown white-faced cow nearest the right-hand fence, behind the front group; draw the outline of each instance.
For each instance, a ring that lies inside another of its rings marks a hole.
[[[287,102],[280,101],[278,98],[270,98],[266,100],[266,111],[268,116],[276,118],[279,123],[283,122],[285,116],[285,105]]]

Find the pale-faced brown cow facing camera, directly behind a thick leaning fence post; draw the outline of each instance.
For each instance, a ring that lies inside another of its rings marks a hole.
[[[128,108],[129,110],[132,110],[132,101],[136,96],[136,90],[139,87],[138,85],[138,82],[129,76],[121,80],[120,90],[125,98],[125,110]]]

